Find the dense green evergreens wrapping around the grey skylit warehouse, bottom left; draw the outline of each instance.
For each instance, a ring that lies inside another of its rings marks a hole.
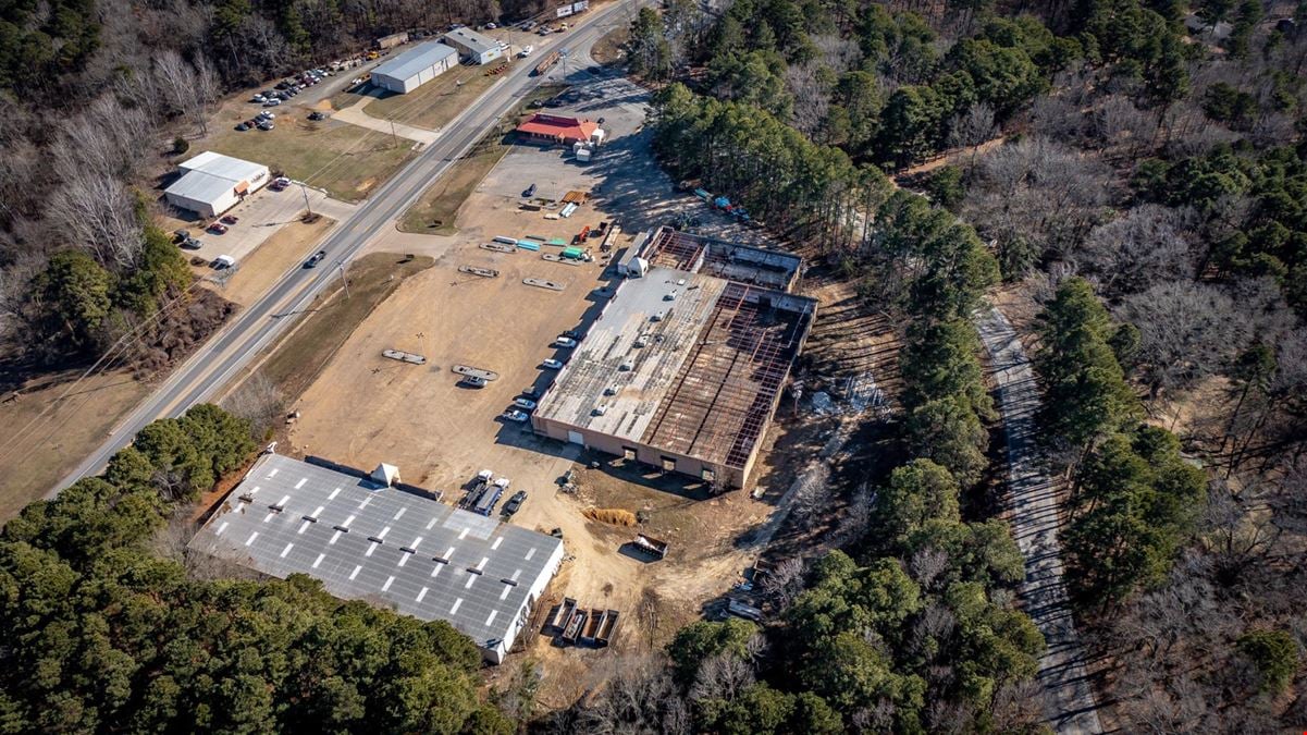
[[[5,524],[0,726],[512,732],[477,693],[476,645],[448,624],[161,553],[174,517],[250,462],[250,432],[214,405],[156,421],[101,476]]]

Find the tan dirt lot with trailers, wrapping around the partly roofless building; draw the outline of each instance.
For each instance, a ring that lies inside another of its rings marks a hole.
[[[752,230],[731,229],[697,199],[672,191],[672,182],[648,158],[648,133],[642,129],[644,90],[606,75],[586,73],[583,81],[553,111],[605,118],[610,139],[595,163],[576,165],[558,146],[514,146],[459,209],[456,235],[396,231],[378,238],[374,248],[427,254],[435,265],[406,279],[333,348],[322,374],[294,405],[302,416],[290,430],[289,451],[356,467],[393,463],[405,481],[442,490],[447,502],[461,497],[478,470],[511,477],[514,488],[529,493],[512,522],[563,532],[569,560],[550,586],[552,599],[567,595],[587,607],[621,611],[623,623],[613,649],[647,651],[702,616],[708,603],[741,578],[759,551],[752,538],[771,518],[792,479],[791,467],[810,456],[821,437],[799,432],[787,438],[788,429],[774,429],[759,459],[762,500],[738,492],[707,498],[698,481],[687,487],[648,468],[625,467],[499,419],[523,388],[553,379],[540,361],[558,354],[550,343],[559,332],[593,315],[603,298],[595,289],[610,276],[599,262],[554,263],[538,252],[498,252],[482,243],[494,235],[570,239],[586,225],[616,218],[625,229],[621,248],[642,228],[664,224],[689,208],[715,234],[755,237]],[[580,190],[593,199],[571,218],[546,220],[558,209],[519,207],[521,190],[531,183],[537,184],[540,197]],[[599,241],[588,245],[597,250]],[[491,268],[498,277],[463,273],[460,265]],[[528,286],[521,282],[525,277],[565,288]],[[387,360],[380,354],[386,348],[422,354],[427,364]],[[451,373],[456,364],[494,370],[499,378],[485,388],[463,388]],[[557,484],[567,470],[578,470],[576,493],[563,493]],[[593,507],[635,513],[640,526],[587,519],[584,511]],[[631,553],[625,544],[637,531],[670,541],[668,558],[650,562]],[[550,604],[540,606],[541,615]],[[605,651],[554,647],[545,636],[521,641],[532,657],[546,662],[542,697],[553,704],[574,697],[610,659]]]

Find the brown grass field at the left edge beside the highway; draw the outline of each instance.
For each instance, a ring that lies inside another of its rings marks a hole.
[[[0,523],[41,500],[149,391],[123,370],[72,386],[78,374],[46,375],[0,403]]]

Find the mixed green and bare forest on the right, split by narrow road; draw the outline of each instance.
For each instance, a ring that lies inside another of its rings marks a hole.
[[[789,570],[778,621],[695,624],[667,674],[569,717],[1038,727],[1019,555],[975,497],[996,416],[970,316],[1001,280],[1036,315],[1042,442],[1103,715],[1157,732],[1307,723],[1303,22],[1307,4],[1259,0],[642,10],[629,61],[657,90],[663,163],[818,242],[903,324],[912,459],[867,477],[864,535]],[[978,626],[993,638],[970,640]],[[616,706],[638,692],[661,704]]]

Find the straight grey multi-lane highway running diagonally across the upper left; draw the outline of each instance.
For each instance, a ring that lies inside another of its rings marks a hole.
[[[589,48],[614,22],[629,22],[630,16],[647,0],[618,0],[608,8],[579,18],[558,47],[570,50],[569,72],[582,73],[578,60],[587,60]],[[529,59],[528,59],[529,61]],[[476,102],[446,126],[440,137],[427,146],[408,166],[382,184],[354,216],[320,245],[327,259],[316,269],[289,271],[263,298],[242,311],[204,344],[180,368],[123,421],[108,438],[47,494],[59,490],[88,475],[99,472],[108,458],[125,447],[146,424],[165,416],[179,416],[187,408],[203,403],[221,390],[227,381],[246,368],[260,350],[290,327],[297,316],[331,282],[339,279],[340,263],[349,260],[363,248],[370,237],[383,228],[393,226],[404,211],[427,186],[443,175],[488,128],[495,124],[541,81],[554,78],[558,71],[531,76],[533,64],[520,64],[485,92]],[[554,69],[561,69],[555,65]]]

